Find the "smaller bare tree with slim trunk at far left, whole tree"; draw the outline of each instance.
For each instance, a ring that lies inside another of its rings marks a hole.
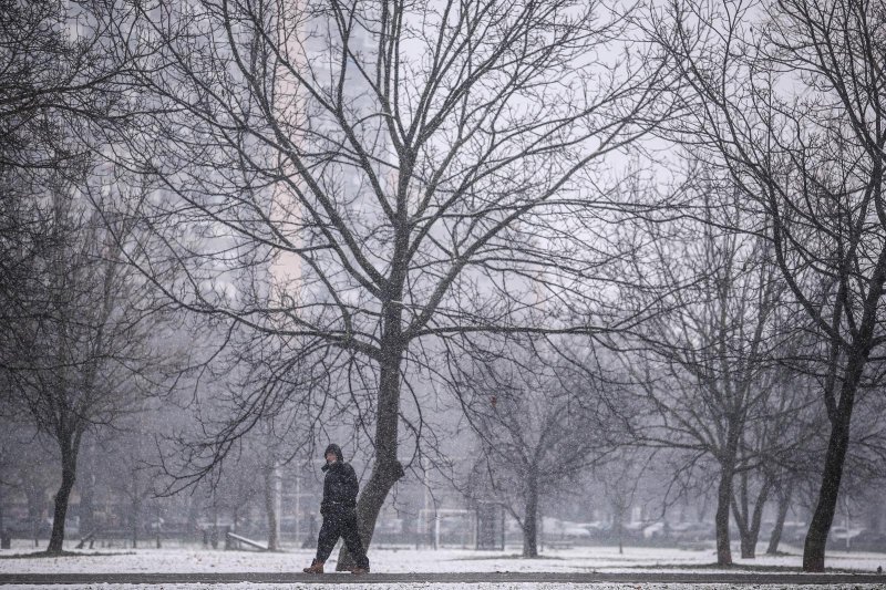
[[[32,267],[39,288],[32,313],[13,327],[19,354],[4,370],[12,407],[59,446],[62,477],[48,551],[61,552],[84,434],[136,411],[138,394],[156,391],[158,368],[176,351],[154,350],[163,324],[151,314],[150,284],[123,263],[100,214],[60,178],[47,199],[49,245]],[[125,222],[114,231],[125,235]]]

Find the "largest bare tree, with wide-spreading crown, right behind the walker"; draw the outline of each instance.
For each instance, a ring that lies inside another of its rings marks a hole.
[[[137,63],[138,124],[110,142],[159,187],[135,211],[155,230],[141,268],[185,309],[281,338],[282,365],[337,373],[374,448],[368,546],[404,473],[408,366],[434,364],[431,339],[530,329],[513,278],[552,301],[588,294],[602,255],[570,237],[643,208],[593,165],[658,124],[663,68],[597,2],[138,7],[115,44]],[[224,286],[256,260],[274,262],[267,302]],[[533,329],[593,331],[580,311]]]

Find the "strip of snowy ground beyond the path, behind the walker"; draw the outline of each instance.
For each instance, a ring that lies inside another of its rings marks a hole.
[[[73,550],[73,544],[70,546]],[[762,549],[762,548],[761,548]],[[776,566],[800,568],[801,551],[783,547],[786,555],[761,555],[756,559],[741,559],[738,551],[733,560],[746,566]],[[106,549],[79,551],[83,557],[12,558],[16,553],[33,552],[32,545],[17,541],[12,549],[0,550],[0,571],[4,572],[207,572],[207,571],[299,571],[310,563],[312,550],[289,549],[279,553],[258,551],[224,551],[202,547],[165,549]],[[101,553],[101,555],[90,555]],[[506,551],[473,551],[466,549],[391,549],[373,548],[369,557],[372,570],[387,573],[461,572],[461,571],[631,571],[667,569],[694,571],[709,566],[717,558],[712,549],[683,550],[667,548],[626,547],[619,555],[616,547],[575,547],[546,549],[539,559],[517,559],[518,548]],[[333,551],[329,566],[334,568]],[[329,566],[327,569],[329,569]],[[827,553],[827,567],[841,570],[873,572],[886,569],[886,553],[839,552]],[[704,571],[715,571],[705,569]],[[734,571],[734,569],[732,570]]]

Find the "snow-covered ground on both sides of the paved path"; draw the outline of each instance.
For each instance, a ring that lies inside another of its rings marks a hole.
[[[73,545],[71,546],[73,549]],[[764,548],[761,547],[761,550]],[[80,551],[82,556],[66,556],[60,558],[20,558],[12,557],[34,551],[33,546],[16,544],[12,549],[0,550],[0,573],[138,573],[138,572],[298,572],[310,563],[312,551],[293,549],[279,553],[257,551],[224,551],[193,547],[182,548],[138,548],[138,549],[94,549]],[[786,555],[760,556],[754,560],[735,558],[735,562],[743,566],[773,566],[799,568],[801,552],[795,548],[785,548]],[[93,553],[93,555],[90,555]],[[94,555],[100,553],[100,555]],[[629,571],[698,571],[699,566],[710,566],[715,561],[712,549],[680,550],[663,548],[635,548],[626,547],[624,555],[619,555],[614,547],[576,547],[570,549],[548,549],[539,559],[517,559],[517,548],[506,551],[472,551],[464,549],[392,549],[373,548],[370,550],[372,571],[380,573],[415,573],[415,572],[629,572]],[[334,570],[333,559],[327,563],[327,571]],[[830,552],[827,567],[834,570],[851,570],[873,573],[877,567],[886,569],[886,553],[864,552]],[[738,568],[739,570],[741,568]],[[750,570],[750,568],[749,568]],[[715,568],[705,568],[704,572],[725,571]],[[731,570],[735,572],[736,569]],[[346,576],[346,575],[336,575]],[[347,575],[349,576],[349,575]],[[863,582],[863,579],[859,580]],[[642,584],[645,590],[683,590],[691,584]],[[202,588],[224,588],[230,590],[256,590],[277,584],[231,583],[231,584],[94,584],[94,586],[53,586],[52,588],[95,588],[101,590],[196,590]],[[348,590],[363,588],[354,583],[293,583],[286,586],[290,589],[305,590]],[[373,583],[377,590],[465,590],[466,588],[480,590],[566,590],[574,588],[590,588],[598,590],[629,590],[639,588],[638,584],[626,583]],[[37,588],[34,586],[4,586],[0,590],[13,588]],[[760,588],[774,590],[773,586],[730,586],[704,584],[705,590],[731,588]],[[833,586],[792,586],[791,588],[852,588],[867,589],[882,588],[877,584],[833,584]]]

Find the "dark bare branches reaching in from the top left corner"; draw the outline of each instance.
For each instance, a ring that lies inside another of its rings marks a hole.
[[[0,3],[0,322],[27,319],[33,259],[49,234],[39,201],[53,176],[82,173],[87,122],[115,120],[125,63],[101,46],[113,17],[90,0]],[[116,68],[112,66],[116,64]],[[79,141],[73,141],[78,138]],[[45,209],[42,209],[43,211]],[[6,329],[0,332],[7,332]],[[0,366],[18,344],[0,341]]]

